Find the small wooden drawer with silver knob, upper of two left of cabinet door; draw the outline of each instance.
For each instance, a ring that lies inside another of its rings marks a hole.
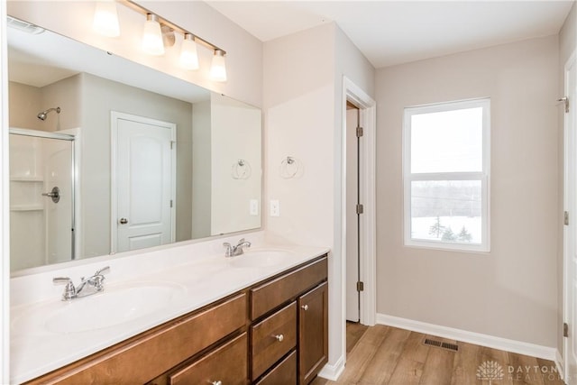
[[[297,345],[297,303],[252,326],[252,380]]]

